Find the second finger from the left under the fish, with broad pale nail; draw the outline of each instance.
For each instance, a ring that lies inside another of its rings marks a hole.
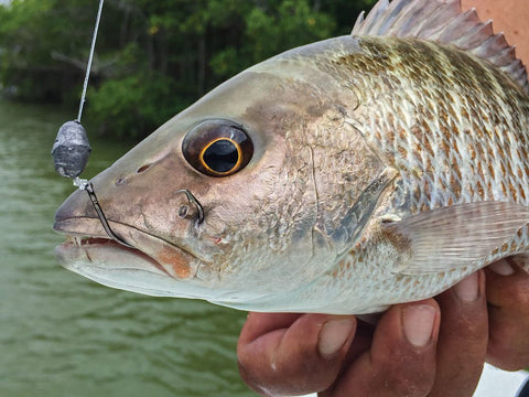
[[[321,396],[419,397],[435,378],[440,309],[433,299],[397,304],[380,319],[371,348]]]

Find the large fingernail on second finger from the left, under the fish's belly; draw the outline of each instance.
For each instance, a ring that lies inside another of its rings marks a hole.
[[[432,337],[435,309],[429,304],[415,304],[404,309],[404,335],[415,347],[423,347]]]

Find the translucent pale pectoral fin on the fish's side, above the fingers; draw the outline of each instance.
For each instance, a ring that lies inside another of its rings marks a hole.
[[[472,266],[528,223],[523,205],[479,202],[424,212],[386,224],[384,230],[408,247],[393,271],[420,275]]]

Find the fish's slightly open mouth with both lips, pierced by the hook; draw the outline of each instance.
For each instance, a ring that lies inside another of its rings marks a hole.
[[[106,236],[97,218],[55,222],[54,230],[65,236],[55,248],[58,262],[107,287],[155,297],[205,298],[207,288],[197,277],[203,261],[195,255],[133,226],[111,224],[130,247]]]

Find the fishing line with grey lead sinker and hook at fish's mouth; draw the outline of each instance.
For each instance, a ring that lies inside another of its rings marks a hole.
[[[91,182],[79,178],[86,167],[86,163],[88,162],[88,157],[91,152],[91,147],[88,142],[88,136],[85,128],[80,124],[80,118],[83,116],[83,107],[85,105],[86,90],[88,88],[88,79],[90,77],[91,64],[96,50],[96,40],[99,31],[99,22],[101,21],[104,1],[105,0],[99,1],[99,9],[97,10],[96,25],[91,36],[90,53],[88,55],[88,63],[86,65],[85,82],[83,84],[77,119],[74,121],[66,121],[61,126],[57,132],[57,138],[55,138],[55,142],[53,143],[52,157],[55,170],[62,176],[73,179],[74,185],[78,186],[79,190],[86,191],[107,235],[115,242],[126,247],[131,247],[129,244],[119,238],[110,228],[107,217],[99,205],[99,201],[97,200],[96,191],[94,190]]]

